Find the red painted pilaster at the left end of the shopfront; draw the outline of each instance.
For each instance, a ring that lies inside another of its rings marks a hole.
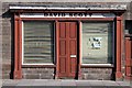
[[[21,79],[22,78],[22,33],[21,33],[21,20],[19,15],[14,14],[14,72],[13,78]]]

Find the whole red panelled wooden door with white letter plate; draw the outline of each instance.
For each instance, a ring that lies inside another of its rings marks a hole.
[[[75,78],[77,74],[77,23],[58,22],[58,77]]]

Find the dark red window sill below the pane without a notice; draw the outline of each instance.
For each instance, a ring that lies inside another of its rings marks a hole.
[[[22,65],[22,68],[55,68],[56,65]]]

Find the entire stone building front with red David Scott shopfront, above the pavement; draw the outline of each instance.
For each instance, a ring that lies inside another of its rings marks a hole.
[[[131,2],[2,2],[3,79],[132,79]]]

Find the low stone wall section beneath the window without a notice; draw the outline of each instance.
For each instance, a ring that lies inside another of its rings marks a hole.
[[[23,79],[54,79],[54,68],[22,68]]]

